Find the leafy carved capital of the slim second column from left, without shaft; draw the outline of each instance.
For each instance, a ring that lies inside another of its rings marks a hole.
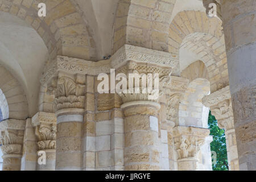
[[[56,149],[56,122],[57,119],[53,113],[38,112],[32,117],[39,150]]]

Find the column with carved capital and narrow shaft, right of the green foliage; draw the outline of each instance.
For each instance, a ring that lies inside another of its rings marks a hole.
[[[203,104],[210,107],[212,114],[218,121],[218,127],[225,129],[226,149],[230,171],[239,170],[236,133],[229,86],[218,90],[203,98]]]

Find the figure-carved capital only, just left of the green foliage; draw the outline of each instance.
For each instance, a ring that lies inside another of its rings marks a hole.
[[[198,127],[174,127],[174,144],[179,154],[179,159],[197,158],[200,147],[210,131]]]

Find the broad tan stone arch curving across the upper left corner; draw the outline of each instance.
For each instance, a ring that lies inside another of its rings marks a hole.
[[[38,4],[46,3],[47,16],[39,18]],[[88,24],[71,0],[1,1],[0,11],[18,16],[32,26],[43,39],[49,60],[56,55],[94,60],[96,49]]]

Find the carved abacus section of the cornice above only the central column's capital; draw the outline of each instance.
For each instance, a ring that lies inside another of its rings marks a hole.
[[[171,53],[156,51],[153,49],[131,46],[125,44],[111,58],[112,68],[120,68],[133,60],[138,63],[156,64],[162,67],[170,67],[174,74],[179,73],[179,60],[174,59]]]

